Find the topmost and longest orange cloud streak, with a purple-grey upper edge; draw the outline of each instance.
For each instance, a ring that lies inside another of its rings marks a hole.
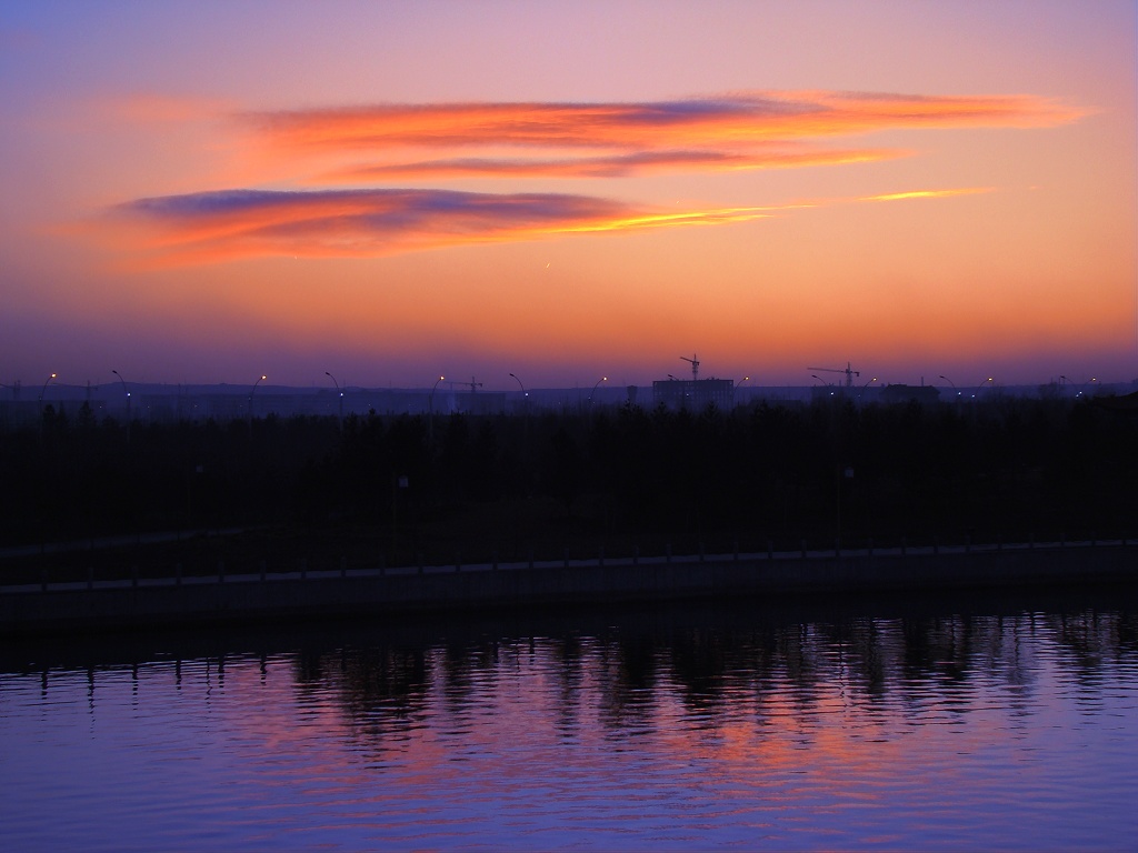
[[[378,151],[472,146],[732,150],[913,127],[1038,127],[1081,114],[1032,96],[749,92],[646,103],[379,105],[247,114],[269,149]]]

